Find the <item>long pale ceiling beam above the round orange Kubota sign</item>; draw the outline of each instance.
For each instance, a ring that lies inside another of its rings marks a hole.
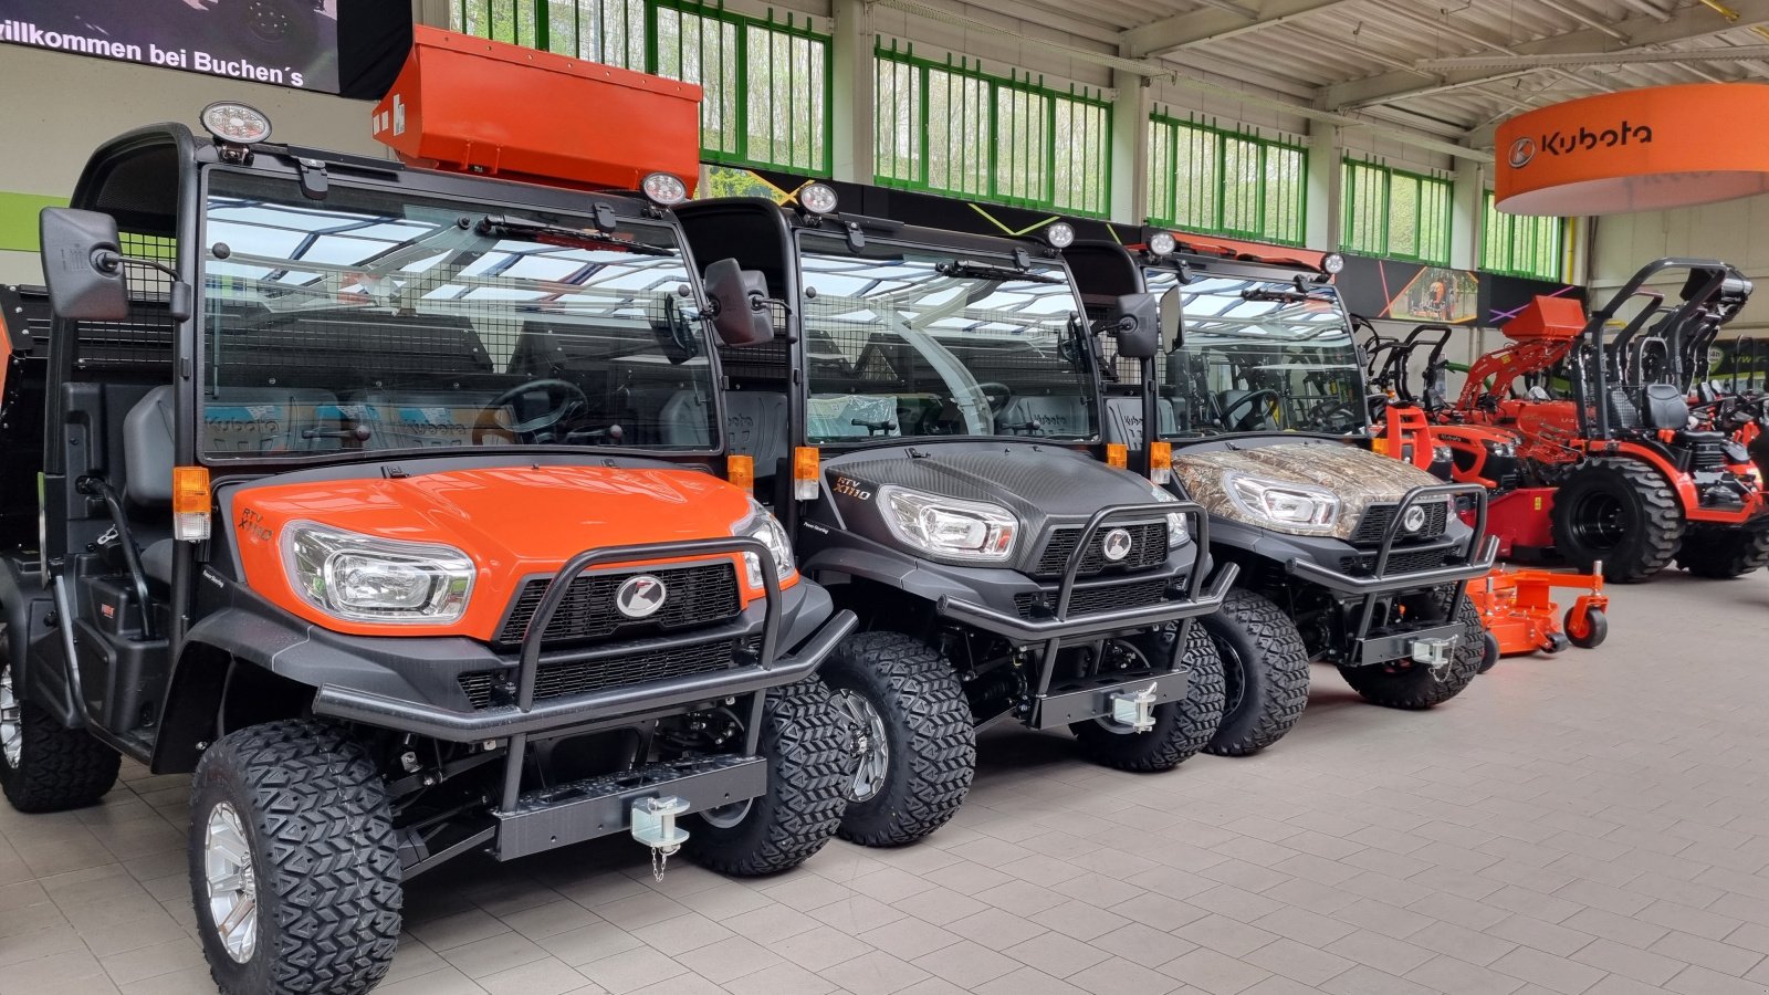
[[[1666,19],[1650,14],[1627,18],[1612,23],[1606,30],[1583,28],[1562,35],[1511,46],[1518,55],[1589,55],[1603,51],[1638,51],[1654,44],[1673,44],[1696,37],[1716,35],[1734,28],[1769,23],[1769,0],[1732,0],[1732,9],[1739,12],[1737,21],[1719,18],[1712,9],[1696,4],[1684,7]],[[1615,41],[1615,34],[1627,41]],[[1445,89],[1461,89],[1486,80],[1516,74],[1516,71],[1497,69],[1459,69],[1451,73],[1422,73],[1398,69],[1378,73],[1364,80],[1337,83],[1321,92],[1321,103],[1329,108],[1359,108],[1380,103],[1399,101]]]

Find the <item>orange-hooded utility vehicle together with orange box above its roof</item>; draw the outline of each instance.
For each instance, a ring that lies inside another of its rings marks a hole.
[[[632,834],[658,873],[757,875],[835,832],[853,751],[816,671],[854,620],[747,462],[720,478],[709,331],[771,324],[667,207],[697,97],[419,30],[377,135],[435,168],[214,104],[211,140],[124,135],[44,211],[0,784],[55,811],[119,756],[195,772],[223,991],[373,988],[402,882],[463,853]],[[552,106],[594,113],[522,113]]]

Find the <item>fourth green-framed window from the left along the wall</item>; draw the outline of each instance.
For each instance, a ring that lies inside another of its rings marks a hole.
[[[1344,161],[1341,248],[1449,266],[1451,182]]]

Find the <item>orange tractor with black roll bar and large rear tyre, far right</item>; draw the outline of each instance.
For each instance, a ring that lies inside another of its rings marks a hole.
[[[1670,305],[1649,287],[1666,273],[1686,274]],[[1537,297],[1505,326],[1512,342],[1474,363],[1456,404],[1470,423],[1518,434],[1535,485],[1493,503],[1504,545],[1548,540],[1567,563],[1601,563],[1620,582],[1645,581],[1673,558],[1702,577],[1769,561],[1760,471],[1725,432],[1693,428],[1688,402],[1689,345],[1711,340],[1750,292],[1725,262],[1661,258],[1589,319],[1574,301]],[[1606,343],[1612,324],[1620,331]],[[1555,375],[1569,384],[1566,397],[1553,391]]]

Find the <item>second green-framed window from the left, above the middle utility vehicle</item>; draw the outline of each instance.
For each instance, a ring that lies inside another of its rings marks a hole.
[[[879,48],[876,182],[1104,218],[1111,106],[968,62]]]

